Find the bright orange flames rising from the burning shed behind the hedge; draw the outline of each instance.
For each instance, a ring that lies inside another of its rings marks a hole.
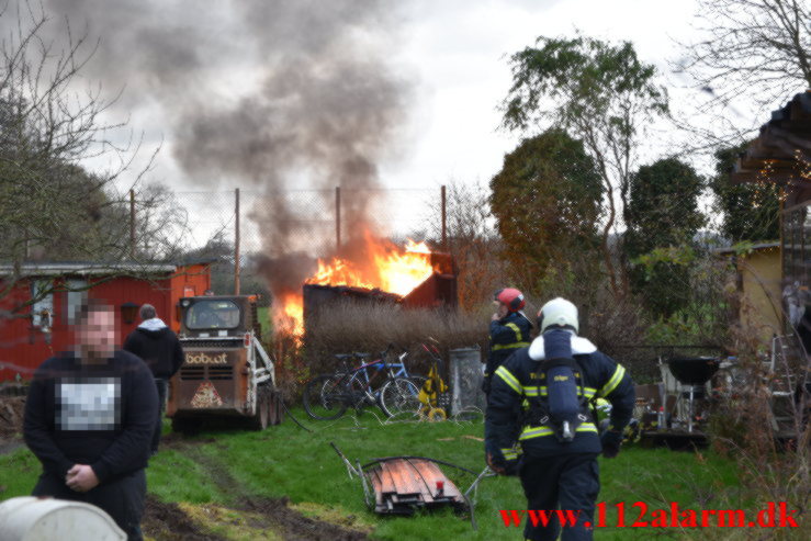
[[[380,289],[405,296],[433,274],[431,250],[426,243],[408,239],[405,247],[365,235],[364,260],[334,257],[318,260],[318,270],[304,283]],[[278,300],[277,325],[296,336],[304,331],[304,302],[301,291]]]

